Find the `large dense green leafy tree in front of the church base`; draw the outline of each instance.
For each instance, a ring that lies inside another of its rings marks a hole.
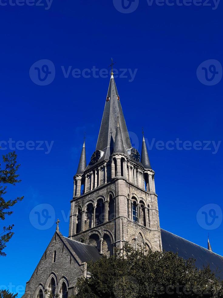
[[[73,298],[223,297],[209,267],[173,252],[135,251],[129,245],[115,256],[88,264],[91,277],[78,280]]]

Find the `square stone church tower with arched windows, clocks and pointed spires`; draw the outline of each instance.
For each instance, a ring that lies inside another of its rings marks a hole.
[[[74,176],[69,238],[112,255],[129,242],[162,250],[154,171],[145,138],[141,157],[131,145],[120,96],[111,74],[96,144],[86,165],[85,143]]]

